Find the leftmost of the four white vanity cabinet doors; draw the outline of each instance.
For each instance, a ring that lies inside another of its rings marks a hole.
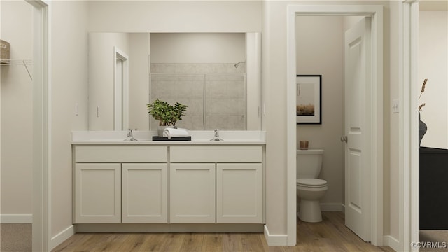
[[[74,223],[121,222],[121,164],[75,166]]]

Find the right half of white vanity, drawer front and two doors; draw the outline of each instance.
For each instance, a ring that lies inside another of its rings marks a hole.
[[[171,223],[262,223],[261,146],[172,146],[170,173]]]

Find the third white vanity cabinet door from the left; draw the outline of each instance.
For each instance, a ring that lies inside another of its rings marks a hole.
[[[210,163],[170,165],[170,223],[215,223],[215,167]]]

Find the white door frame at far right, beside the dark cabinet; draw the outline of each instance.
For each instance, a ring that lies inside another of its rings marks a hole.
[[[398,159],[398,250],[419,251],[411,247],[419,241],[419,148],[418,148],[418,43],[419,1],[399,3],[399,159]],[[402,113],[401,113],[402,112]]]

